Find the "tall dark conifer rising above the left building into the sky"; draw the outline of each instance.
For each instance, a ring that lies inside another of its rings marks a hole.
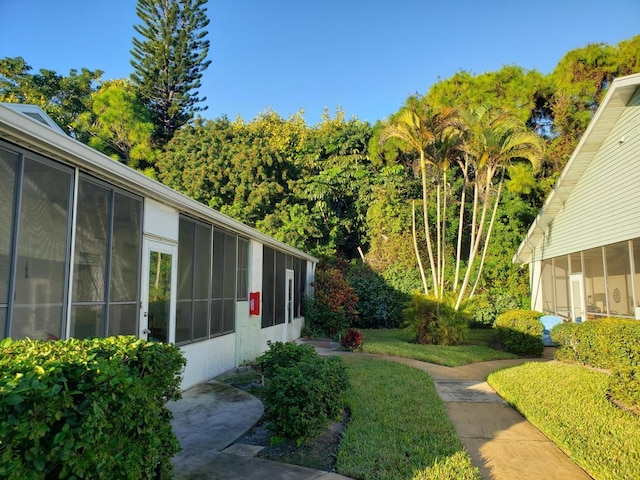
[[[202,73],[211,63],[207,31],[207,0],[138,0],[142,25],[134,29],[131,75],[153,114],[156,142],[164,145],[193,118]]]

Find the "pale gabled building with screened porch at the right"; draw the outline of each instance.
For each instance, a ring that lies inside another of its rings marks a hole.
[[[531,308],[640,319],[640,74],[615,79],[514,262]]]

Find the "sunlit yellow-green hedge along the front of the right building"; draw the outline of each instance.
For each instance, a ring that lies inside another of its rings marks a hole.
[[[563,323],[551,330],[556,360],[611,370],[609,395],[640,410],[640,322],[603,318]]]

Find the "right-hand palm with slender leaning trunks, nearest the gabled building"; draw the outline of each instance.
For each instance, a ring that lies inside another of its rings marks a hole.
[[[524,123],[510,112],[480,107],[465,115],[465,123],[467,128],[461,148],[465,158],[469,161],[469,168],[473,170],[474,197],[467,270],[458,292],[456,310],[465,297],[472,267],[481,244],[483,245],[482,256],[468,298],[473,297],[482,275],[482,267],[495,224],[506,168],[513,162],[522,160],[530,162],[533,168],[537,169],[544,151],[542,138],[527,130]],[[499,180],[495,185],[497,176]],[[479,211],[480,204],[481,211]],[[490,208],[491,218],[485,232]]]

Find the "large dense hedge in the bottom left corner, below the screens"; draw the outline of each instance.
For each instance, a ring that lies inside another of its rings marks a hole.
[[[109,337],[0,342],[0,477],[169,478],[180,449],[171,345]]]

